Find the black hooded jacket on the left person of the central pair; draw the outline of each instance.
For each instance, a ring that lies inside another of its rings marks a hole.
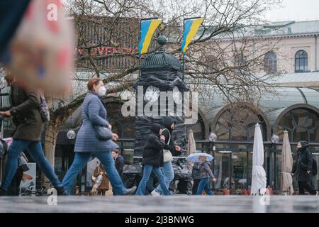
[[[163,166],[164,140],[160,140],[159,137],[159,129],[161,128],[162,126],[157,123],[152,125],[151,134],[148,136],[143,150],[142,165]]]

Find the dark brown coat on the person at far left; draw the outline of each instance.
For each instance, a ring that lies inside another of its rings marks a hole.
[[[9,101],[11,106],[0,111],[10,111],[16,129],[13,139],[40,141],[43,131],[43,120],[40,115],[40,93],[33,89],[22,89],[11,86]]]

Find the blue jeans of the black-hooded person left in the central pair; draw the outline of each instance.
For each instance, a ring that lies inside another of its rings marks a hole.
[[[166,184],[164,182],[164,175],[162,174],[162,171],[159,170],[159,167],[155,167],[152,165],[144,165],[143,177],[140,180],[140,184],[138,184],[138,190],[136,191],[136,195],[142,196],[145,194],[147,182],[150,179],[150,175],[151,175],[152,171],[157,176],[157,178],[159,180],[159,184],[163,188],[163,194],[166,196],[171,195],[171,193],[167,189]]]

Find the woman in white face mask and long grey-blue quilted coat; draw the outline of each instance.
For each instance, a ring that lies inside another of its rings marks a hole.
[[[70,192],[79,171],[86,165],[91,155],[94,155],[105,167],[106,174],[113,187],[113,194],[132,194],[135,192],[136,187],[130,189],[124,187],[111,155],[111,151],[118,148],[118,145],[113,142],[113,140],[117,140],[118,135],[113,133],[113,140],[99,140],[94,129],[94,126],[112,128],[111,124],[106,120],[107,113],[102,102],[102,96],[106,94],[106,88],[102,80],[96,77],[89,79],[87,87],[89,91],[82,104],[83,122],[75,140],[74,161],[67,171],[62,184],[67,192]]]

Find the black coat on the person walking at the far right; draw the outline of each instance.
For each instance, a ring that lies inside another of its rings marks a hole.
[[[309,181],[310,174],[307,171],[313,169],[313,157],[310,150],[308,150],[308,142],[302,141],[302,147],[298,148],[296,153],[296,160],[293,165],[292,173],[296,174],[297,181]]]

